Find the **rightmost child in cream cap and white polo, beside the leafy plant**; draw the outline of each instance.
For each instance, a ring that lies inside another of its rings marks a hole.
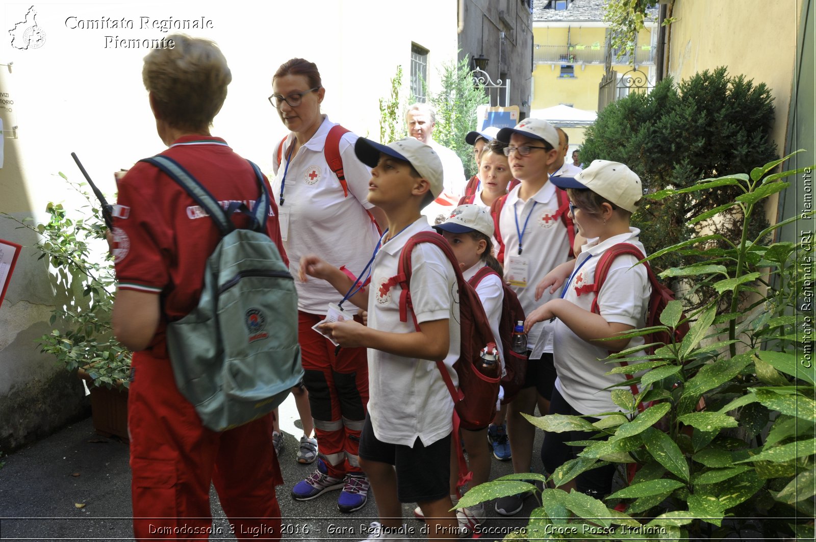
[[[611,367],[603,360],[610,351],[634,349],[644,343],[642,336],[614,337],[645,326],[651,286],[645,266],[638,265],[639,259],[630,254],[612,260],[600,291],[593,286],[596,266],[610,247],[628,243],[646,254],[638,239],[640,230],[629,226],[629,217],[643,195],[641,180],[622,163],[595,160],[574,179],[553,177],[552,183],[570,195],[573,220],[588,242],[574,261],[560,298],[529,313],[525,322],[530,327],[534,322],[557,318],[554,335],[558,378],[550,413],[586,417],[619,411],[607,388],[627,377],[608,374]],[[632,357],[641,355],[644,353],[633,353]],[[544,467],[552,473],[581,450],[566,442],[588,438],[592,438],[592,432],[547,433],[541,448]],[[601,499],[612,491],[613,475],[614,464],[608,464],[579,474],[574,486]]]

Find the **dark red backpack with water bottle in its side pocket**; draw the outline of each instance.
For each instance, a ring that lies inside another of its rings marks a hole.
[[[516,326],[516,322],[521,320],[524,322],[524,308],[518,300],[515,291],[503,281],[501,275],[496,273],[494,269],[485,266],[477,271],[475,275],[468,281],[476,290],[482,279],[496,275],[502,282],[504,291],[504,299],[502,301],[502,315],[499,318],[499,336],[502,340],[502,359],[504,360],[505,374],[501,380],[502,388],[504,389],[504,398],[502,404],[506,405],[511,402],[516,394],[524,387],[524,380],[527,375],[527,357],[512,351],[512,331]]]

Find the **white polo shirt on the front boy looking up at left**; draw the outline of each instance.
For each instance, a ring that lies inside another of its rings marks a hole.
[[[391,333],[416,331],[410,314],[400,322],[402,289],[391,286],[389,279],[397,275],[402,247],[424,231],[432,229],[423,216],[377,252],[368,295],[369,327]],[[411,262],[410,296],[417,322],[448,319],[450,350],[443,362],[457,385],[453,365],[459,359],[459,287],[454,269],[446,255],[427,242],[415,247]],[[419,438],[428,446],[453,429],[454,402],[436,362],[368,349],[368,380],[368,412],[380,441],[414,446]]]

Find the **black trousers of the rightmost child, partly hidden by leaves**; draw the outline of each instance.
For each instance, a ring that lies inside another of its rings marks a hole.
[[[557,389],[552,389],[552,399],[550,399],[550,414],[582,415],[576,411],[566,399],[561,396]],[[597,418],[584,418],[592,423]],[[544,470],[548,474],[555,472],[555,469],[565,464],[569,460],[574,460],[583,446],[569,446],[566,442],[589,440],[596,433],[592,431],[565,431],[564,433],[544,433],[544,442],[541,445],[541,462]],[[602,499],[612,492],[612,478],[614,477],[615,464],[610,463],[597,469],[591,469],[580,473],[575,478],[575,486],[578,491],[592,495],[596,499]]]

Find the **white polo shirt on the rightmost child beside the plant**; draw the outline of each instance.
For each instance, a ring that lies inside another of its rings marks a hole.
[[[601,254],[619,242],[628,242],[646,254],[638,240],[639,229],[630,228],[629,233],[622,233],[604,242],[597,238],[583,245],[581,254],[575,260],[574,277],[571,278],[564,299],[578,305],[581,309],[592,309],[595,294],[578,295],[575,288],[582,284],[595,283],[595,268],[601,260]],[[619,322],[633,327],[644,327],[646,310],[649,307],[649,296],[652,287],[644,265],[638,265],[632,255],[620,255],[610,265],[601,291],[598,292],[598,309],[606,322]],[[580,266],[580,269],[579,269]],[[559,292],[560,295],[560,292]],[[644,344],[643,337],[632,337],[625,349]],[[632,354],[642,356],[644,353]],[[613,363],[599,361],[609,356],[609,350],[588,343],[575,335],[561,320],[555,322],[555,360],[558,378],[558,393],[581,414],[592,415],[601,412],[619,411],[620,407],[612,402],[610,390],[604,389],[612,384],[627,380],[624,375],[607,375],[617,367]]]

